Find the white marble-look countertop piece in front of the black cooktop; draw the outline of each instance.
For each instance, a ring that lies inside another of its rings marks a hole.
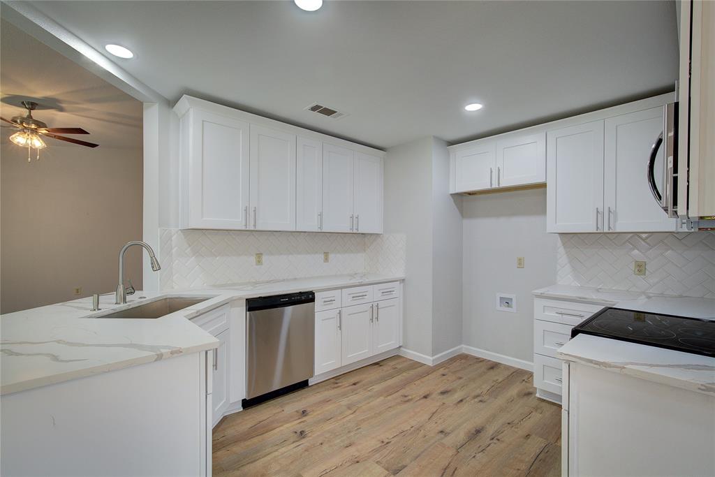
[[[569,340],[557,355],[562,360],[715,396],[715,358],[709,356],[583,334]]]

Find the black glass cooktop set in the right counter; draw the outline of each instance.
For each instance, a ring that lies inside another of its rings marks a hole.
[[[715,321],[606,308],[571,330],[696,355],[715,357]]]

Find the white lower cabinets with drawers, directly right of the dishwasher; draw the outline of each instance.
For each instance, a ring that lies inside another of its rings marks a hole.
[[[353,363],[399,348],[402,337],[400,292],[400,282],[317,292],[315,376],[320,379],[325,373],[344,373],[355,368]],[[378,298],[383,293],[390,298]],[[352,297],[358,301],[357,305],[341,307],[341,303],[351,303]],[[363,300],[368,303],[362,303]],[[353,365],[352,368],[345,368],[349,365]]]

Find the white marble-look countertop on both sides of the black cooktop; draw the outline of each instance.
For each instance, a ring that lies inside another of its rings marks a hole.
[[[552,285],[534,290],[533,295],[596,303],[626,310],[715,320],[715,300],[709,298],[573,285]],[[715,358],[708,356],[583,334],[563,345],[558,350],[558,356],[563,360],[715,395]]]

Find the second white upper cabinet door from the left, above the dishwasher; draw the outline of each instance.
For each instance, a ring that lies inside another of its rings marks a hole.
[[[295,230],[295,134],[251,125],[250,220],[257,230]]]

